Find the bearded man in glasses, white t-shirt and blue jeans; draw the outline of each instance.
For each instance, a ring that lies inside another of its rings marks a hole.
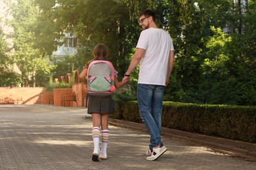
[[[167,150],[161,142],[161,114],[163,93],[173,69],[174,48],[170,35],[156,25],[152,10],[140,13],[139,24],[143,31],[123,80],[129,78],[140,63],[137,98],[140,117],[150,133],[146,160],[152,161]]]

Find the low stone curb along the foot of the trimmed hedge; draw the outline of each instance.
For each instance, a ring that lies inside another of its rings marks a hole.
[[[127,129],[133,129],[147,133],[144,124],[128,122],[125,120],[116,120],[112,118],[109,118],[109,124],[113,126],[125,127]],[[200,135],[197,133],[180,131],[177,129],[169,129],[167,127],[162,127],[162,135],[165,137],[169,137],[175,141],[182,141],[186,143],[207,146],[211,148],[214,152],[221,152],[223,154],[228,154],[232,157],[243,158],[249,161],[256,161],[255,143],[234,141],[231,139],[224,139],[221,137],[211,137],[207,135]]]

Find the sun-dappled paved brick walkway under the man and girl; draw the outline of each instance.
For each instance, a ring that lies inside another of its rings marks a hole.
[[[168,148],[163,156],[147,161],[148,133],[115,120],[110,121],[108,160],[94,162],[91,116],[85,112],[81,107],[0,105],[0,169],[256,168],[256,161],[215,152],[175,134],[162,138]]]

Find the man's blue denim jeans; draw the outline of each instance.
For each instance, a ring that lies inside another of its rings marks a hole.
[[[148,133],[150,133],[150,149],[162,144],[161,114],[164,91],[165,86],[138,84],[137,98],[140,118],[144,122]]]

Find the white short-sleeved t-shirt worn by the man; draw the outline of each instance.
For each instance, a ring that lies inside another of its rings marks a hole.
[[[167,66],[173,40],[163,29],[149,28],[140,33],[136,48],[146,50],[140,60],[139,84],[165,86]]]

